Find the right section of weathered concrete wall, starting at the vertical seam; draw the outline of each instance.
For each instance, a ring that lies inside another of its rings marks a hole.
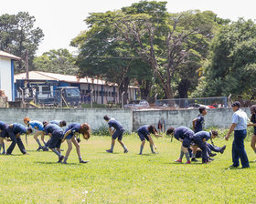
[[[250,117],[250,108],[243,108]],[[169,126],[185,126],[192,128],[192,120],[199,114],[197,109],[184,110],[148,110],[133,112],[133,131],[142,125],[154,124],[157,126],[160,118],[165,118],[165,130]],[[205,127],[229,128],[232,120],[233,111],[230,108],[208,109],[205,117]]]

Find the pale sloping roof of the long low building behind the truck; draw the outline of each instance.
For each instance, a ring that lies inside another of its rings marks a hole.
[[[101,80],[97,78],[91,78],[91,77],[78,78],[78,76],[73,76],[73,75],[62,75],[62,74],[39,72],[39,71],[30,71],[28,73],[28,76],[29,76],[29,80],[55,80],[55,81],[63,81],[68,83],[107,85],[107,86],[117,87],[117,84],[106,82],[105,80]],[[18,79],[26,79],[26,73],[16,74],[15,82]]]

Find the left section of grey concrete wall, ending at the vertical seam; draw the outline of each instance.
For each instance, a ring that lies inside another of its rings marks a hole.
[[[61,109],[61,108],[0,108],[0,121],[7,124],[21,123],[23,118],[29,117],[31,119],[43,121],[53,119],[65,119],[67,124],[70,123],[88,123],[92,129],[98,129],[106,126],[103,116],[108,115],[118,119],[123,124],[123,127],[132,131],[133,129],[133,113],[128,109]]]

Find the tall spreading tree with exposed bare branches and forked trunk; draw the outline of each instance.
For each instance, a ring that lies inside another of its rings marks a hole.
[[[112,24],[137,55],[151,65],[165,97],[172,98],[179,67],[189,64],[192,57],[200,59],[204,55],[217,23],[212,12],[168,14],[165,5],[155,1],[135,3],[115,15]]]

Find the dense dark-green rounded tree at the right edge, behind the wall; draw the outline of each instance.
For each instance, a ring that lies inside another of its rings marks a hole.
[[[240,18],[223,26],[212,41],[205,75],[194,96],[255,95],[256,25]]]

